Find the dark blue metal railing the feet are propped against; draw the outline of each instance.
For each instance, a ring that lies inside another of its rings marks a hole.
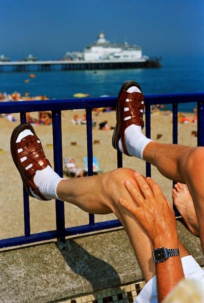
[[[151,137],[151,105],[172,104],[173,114],[173,138],[172,143],[177,143],[177,115],[178,104],[196,102],[198,106],[198,146],[204,146],[204,93],[190,94],[168,94],[145,96],[145,119],[146,135]],[[53,155],[54,169],[63,176],[63,151],[62,151],[62,125],[61,111],[71,109],[86,109],[87,116],[87,154],[88,154],[88,174],[93,174],[93,146],[92,146],[92,108],[115,107],[116,97],[66,99],[66,100],[44,100],[44,101],[18,101],[0,102],[0,113],[20,113],[21,123],[26,122],[26,112],[52,111],[53,125]],[[122,167],[122,154],[117,152],[118,167]],[[146,164],[146,175],[151,175],[151,166]],[[65,239],[66,236],[90,233],[104,229],[121,226],[118,220],[95,223],[94,215],[89,214],[89,224],[65,228],[64,202],[56,201],[56,230],[38,234],[31,234],[30,229],[30,207],[29,196],[24,190],[24,236],[17,236],[0,240],[0,248],[33,243],[53,238]]]

